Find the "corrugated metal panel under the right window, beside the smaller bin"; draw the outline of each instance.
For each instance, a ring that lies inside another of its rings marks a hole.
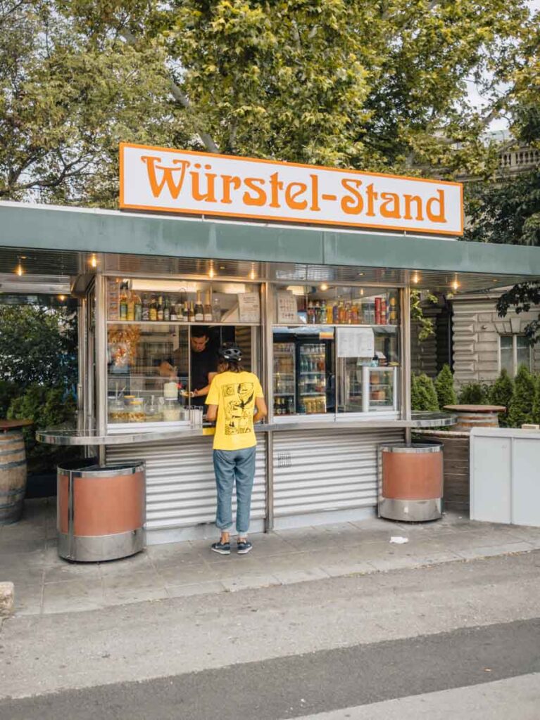
[[[402,430],[274,434],[274,515],[376,505],[377,446]]]

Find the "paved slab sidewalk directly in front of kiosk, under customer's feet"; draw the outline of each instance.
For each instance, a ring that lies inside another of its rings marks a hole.
[[[408,542],[391,544],[391,536]],[[540,528],[448,513],[432,523],[372,518],[251,539],[247,556],[220,557],[209,541],[196,541],[154,545],[112,562],[70,563],[56,552],[56,500],[27,500],[22,521],[0,527],[0,581],[14,582],[18,616],[79,612],[531,552],[540,549]]]

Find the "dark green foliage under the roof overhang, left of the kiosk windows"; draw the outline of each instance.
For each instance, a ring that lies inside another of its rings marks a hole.
[[[0,305],[0,380],[74,387],[76,316],[65,309]]]

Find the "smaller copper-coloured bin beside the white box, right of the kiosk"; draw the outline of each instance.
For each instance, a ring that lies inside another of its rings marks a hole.
[[[443,444],[392,443],[380,448],[379,516],[389,520],[437,520],[443,503]]]

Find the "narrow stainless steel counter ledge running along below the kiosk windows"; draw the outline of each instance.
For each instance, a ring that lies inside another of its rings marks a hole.
[[[412,420],[293,420],[291,422],[278,422],[261,424],[256,426],[257,433],[282,432],[282,431],[309,431],[309,430],[373,430],[389,428],[441,428],[456,423],[456,415],[451,413],[412,413]],[[197,428],[196,430],[161,430],[150,432],[133,433],[112,433],[109,435],[97,435],[95,431],[77,430],[50,430],[38,431],[37,441],[48,445],[126,445],[133,443],[155,442],[159,440],[190,440],[208,435],[205,432],[208,428]],[[211,437],[211,435],[208,435]]]

